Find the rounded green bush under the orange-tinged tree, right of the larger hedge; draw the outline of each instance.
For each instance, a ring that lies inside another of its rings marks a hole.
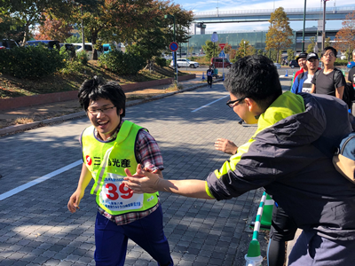
[[[99,58],[100,65],[106,66],[115,74],[138,74],[146,66],[146,60],[129,52],[110,51]]]

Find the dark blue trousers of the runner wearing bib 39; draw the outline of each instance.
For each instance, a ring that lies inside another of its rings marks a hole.
[[[117,225],[105,216],[96,216],[95,261],[97,266],[123,266],[128,239],[150,254],[159,266],[172,266],[168,239],[162,231],[162,206],[152,214],[124,225]]]

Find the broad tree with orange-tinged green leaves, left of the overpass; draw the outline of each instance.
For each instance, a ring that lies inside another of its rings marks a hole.
[[[187,27],[193,21],[193,13],[185,12],[178,4],[155,0],[91,0],[70,2],[72,12],[59,11],[61,18],[84,25],[85,35],[94,44],[93,59],[97,59],[97,43],[117,42],[126,46],[136,45],[135,50],[146,55],[160,53],[172,41],[172,20],[164,20],[165,14],[173,14],[177,21],[177,42],[188,39]],[[83,11],[83,14],[82,14]],[[171,37],[171,38],[170,38]],[[138,49],[138,46],[141,46]],[[139,50],[139,51],[138,51]],[[150,53],[149,53],[150,50]]]

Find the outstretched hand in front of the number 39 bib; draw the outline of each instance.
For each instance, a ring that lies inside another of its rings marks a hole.
[[[143,169],[140,164],[137,166],[137,172],[134,175],[130,174],[128,168],[124,169],[126,177],[124,177],[123,184],[130,188],[134,193],[154,193],[157,192],[159,180],[161,177]]]

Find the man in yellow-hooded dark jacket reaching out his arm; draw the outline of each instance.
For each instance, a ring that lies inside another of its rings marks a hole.
[[[138,166],[124,184],[134,192],[206,200],[228,200],[264,187],[303,230],[289,266],[352,265],[355,184],[332,163],[335,147],[352,131],[347,106],[325,95],[282,93],[272,60],[260,55],[234,63],[225,89],[227,106],[245,122],[257,123],[256,133],[236,154],[206,180],[162,179]]]

